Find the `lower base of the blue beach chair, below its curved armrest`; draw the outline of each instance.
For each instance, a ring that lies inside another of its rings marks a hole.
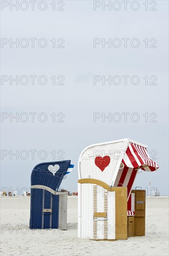
[[[66,230],[68,193],[55,192],[53,195],[49,191],[36,187],[31,187],[31,195],[35,198],[34,200],[31,198],[30,229]]]

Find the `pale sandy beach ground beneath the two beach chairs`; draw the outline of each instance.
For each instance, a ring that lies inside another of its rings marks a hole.
[[[68,230],[30,230],[30,197],[1,197],[0,255],[169,255],[169,197],[146,198],[146,236],[114,242],[77,238],[77,196],[68,197]]]

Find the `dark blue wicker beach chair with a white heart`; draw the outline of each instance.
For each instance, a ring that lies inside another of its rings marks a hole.
[[[58,229],[59,224],[66,229],[68,193],[58,189],[73,167],[70,160],[66,160],[40,163],[33,168],[30,229]]]

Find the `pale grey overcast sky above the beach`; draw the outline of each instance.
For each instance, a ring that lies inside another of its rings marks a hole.
[[[55,1],[55,11],[50,0],[34,11],[10,2],[1,1],[1,187],[30,188],[36,164],[70,159],[62,187],[76,191],[83,148],[131,138],[160,166],[133,186],[168,195],[168,1]]]

